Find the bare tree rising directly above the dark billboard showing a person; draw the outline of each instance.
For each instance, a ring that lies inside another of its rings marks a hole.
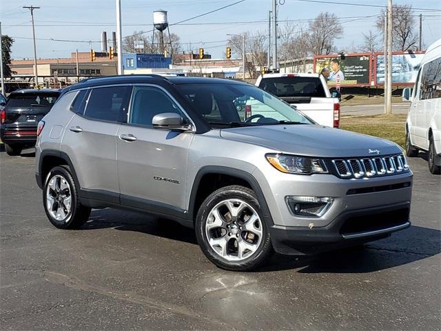
[[[315,55],[329,54],[334,48],[334,40],[342,37],[343,28],[336,14],[320,12],[309,23],[309,43]]]

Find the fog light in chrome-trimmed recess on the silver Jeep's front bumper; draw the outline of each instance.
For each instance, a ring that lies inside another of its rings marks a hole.
[[[334,199],[329,197],[296,197],[285,198],[289,210],[296,216],[321,217],[329,209]]]

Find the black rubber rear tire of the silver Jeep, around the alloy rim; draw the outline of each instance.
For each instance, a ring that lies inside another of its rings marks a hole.
[[[51,179],[56,176],[57,178],[62,177],[68,183],[70,188],[70,211],[67,213],[65,219],[62,220],[57,220],[52,216],[48,210],[47,203],[48,185],[50,185]],[[80,228],[81,225],[88,221],[90,217],[91,208],[81,205],[78,198],[78,188],[76,188],[75,181],[72,177],[72,172],[70,171],[68,165],[60,165],[50,170],[48,177],[45,179],[43,187],[43,206],[50,223],[59,229]]]

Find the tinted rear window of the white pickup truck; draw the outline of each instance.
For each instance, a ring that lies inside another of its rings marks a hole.
[[[259,88],[276,97],[326,97],[318,77],[271,77],[263,78]]]

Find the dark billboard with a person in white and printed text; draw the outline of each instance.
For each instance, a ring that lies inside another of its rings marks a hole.
[[[314,57],[314,71],[327,79],[328,86],[369,86],[371,54]]]

